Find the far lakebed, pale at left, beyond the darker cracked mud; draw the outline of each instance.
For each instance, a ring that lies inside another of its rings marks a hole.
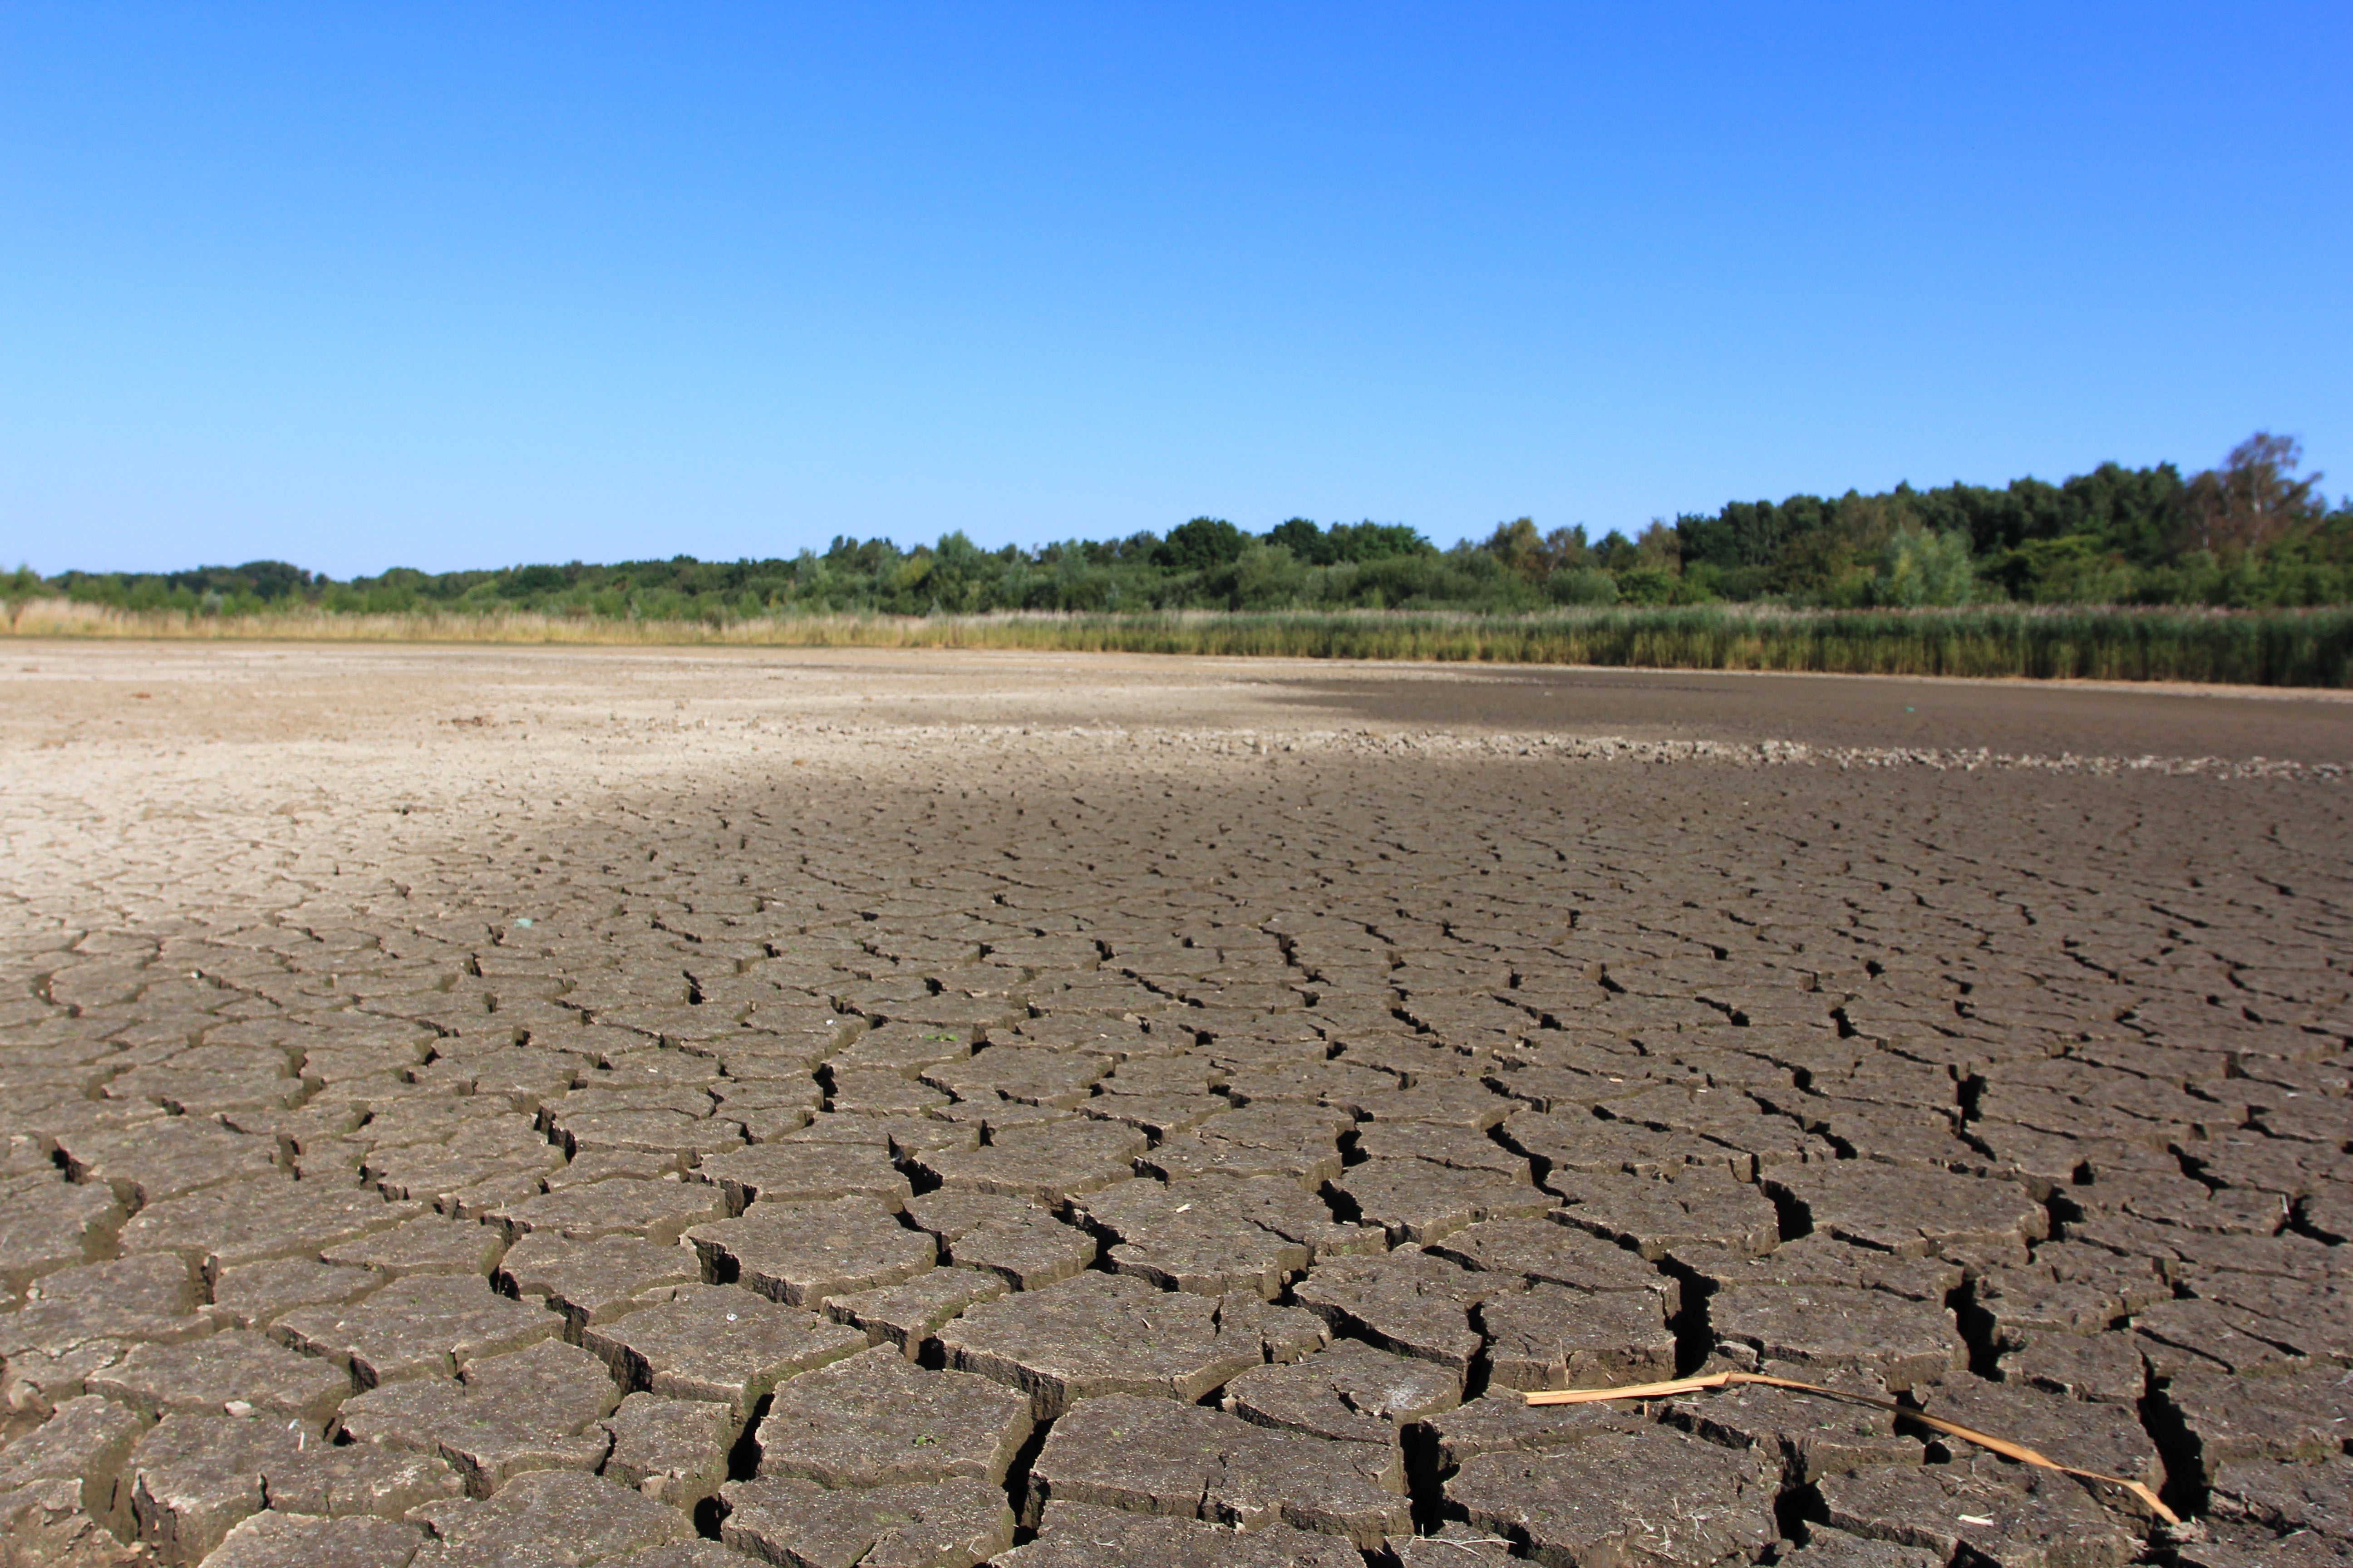
[[[428,837],[882,752],[901,780],[908,764],[953,780],[981,748],[1038,764],[1595,738],[1642,762],[1760,743],[2353,757],[2346,693],[2249,698],[1141,654],[16,642],[0,668],[0,886],[12,924],[45,931],[87,924],[94,898],[132,924],[169,919],[198,886],[278,905]]]

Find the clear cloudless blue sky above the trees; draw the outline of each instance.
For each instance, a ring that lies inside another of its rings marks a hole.
[[[0,564],[2353,484],[2346,5],[0,7]]]

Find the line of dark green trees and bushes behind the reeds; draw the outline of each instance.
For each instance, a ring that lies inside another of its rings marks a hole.
[[[2101,463],[2059,484],[1946,484],[1732,501],[1633,536],[1518,517],[1438,548],[1405,524],[1292,517],[1249,534],[1193,517],[1162,534],[984,550],[962,531],[901,550],[838,536],[772,559],[671,559],[414,571],[334,581],[285,562],[191,571],[0,576],[118,609],[249,614],[499,611],[732,618],[772,614],[984,614],[1144,609],[1478,609],[1779,602],[2214,604],[2353,602],[2353,501],[2334,508],[2292,437],[2259,433],[2221,465]]]

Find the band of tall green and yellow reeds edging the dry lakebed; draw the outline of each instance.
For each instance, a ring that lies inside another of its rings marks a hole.
[[[16,637],[1066,649],[2249,686],[2353,684],[2353,609],[1791,611],[1699,604],[1562,609],[1529,616],[1165,611],[619,621],[541,614],[353,616],[318,609],[188,616],[33,599],[16,607],[7,630]]]

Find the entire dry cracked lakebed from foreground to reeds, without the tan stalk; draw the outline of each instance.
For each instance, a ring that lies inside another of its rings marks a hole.
[[[5,656],[9,1561],[2353,1559],[2341,701]]]

